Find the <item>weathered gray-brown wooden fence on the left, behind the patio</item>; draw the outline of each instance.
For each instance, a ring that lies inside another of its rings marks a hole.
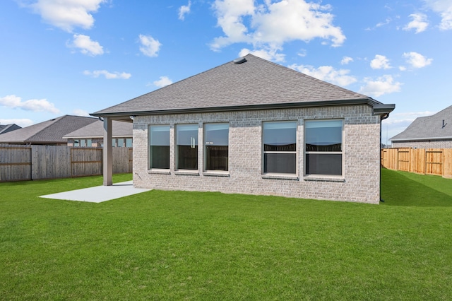
[[[132,172],[132,148],[113,148],[113,172]],[[102,175],[102,148],[0,146],[0,182]]]

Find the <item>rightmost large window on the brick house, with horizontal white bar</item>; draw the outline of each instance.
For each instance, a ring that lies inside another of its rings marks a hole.
[[[304,122],[306,175],[342,175],[343,121]]]

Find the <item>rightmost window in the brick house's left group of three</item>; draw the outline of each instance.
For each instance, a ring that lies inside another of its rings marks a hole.
[[[228,170],[229,124],[204,125],[206,170]]]

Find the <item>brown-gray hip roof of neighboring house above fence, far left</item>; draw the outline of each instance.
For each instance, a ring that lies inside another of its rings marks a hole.
[[[0,143],[51,144],[67,143],[64,135],[96,122],[92,117],[64,115],[0,135]]]

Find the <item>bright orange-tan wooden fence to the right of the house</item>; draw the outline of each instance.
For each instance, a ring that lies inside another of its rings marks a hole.
[[[381,166],[452,178],[452,148],[383,148]]]

